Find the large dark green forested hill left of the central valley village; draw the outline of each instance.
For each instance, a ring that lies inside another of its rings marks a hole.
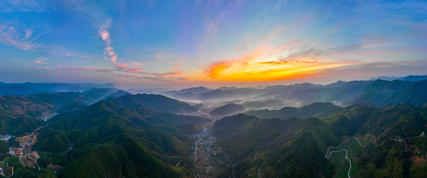
[[[59,113],[40,130],[34,149],[58,153],[75,148],[58,177],[189,177],[188,170],[173,166],[181,160],[192,167],[188,155],[194,138],[183,134],[200,133],[200,124],[209,120],[141,104],[124,107],[122,101],[101,100]]]

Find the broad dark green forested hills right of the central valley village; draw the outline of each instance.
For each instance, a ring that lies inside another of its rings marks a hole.
[[[356,135],[364,147],[356,139],[344,144],[353,164],[351,177],[415,178],[427,175],[426,166],[419,166],[427,161],[427,138],[416,137],[426,132],[426,113],[426,106],[356,104],[321,119],[257,119],[239,114],[216,121],[213,133],[220,137],[215,148],[220,146],[230,157],[243,159],[234,167],[237,175],[248,176],[257,168],[261,168],[261,177],[347,175],[348,161],[326,158],[326,148]]]

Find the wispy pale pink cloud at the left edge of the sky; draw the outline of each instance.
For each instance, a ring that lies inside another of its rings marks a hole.
[[[18,49],[31,50],[43,45],[44,42],[36,41],[37,37],[32,38],[33,31],[25,29],[23,31],[17,30],[13,23],[0,25],[0,43]]]

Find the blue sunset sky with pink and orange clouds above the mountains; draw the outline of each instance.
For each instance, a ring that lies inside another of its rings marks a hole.
[[[5,83],[177,89],[426,74],[426,1],[0,1]]]

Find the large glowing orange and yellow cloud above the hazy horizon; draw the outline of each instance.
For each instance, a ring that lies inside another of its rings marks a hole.
[[[260,44],[249,55],[216,62],[205,71],[217,81],[279,81],[314,75],[322,70],[342,67],[359,61],[335,61],[343,51],[356,50],[358,45],[317,48],[294,41],[278,46]]]

